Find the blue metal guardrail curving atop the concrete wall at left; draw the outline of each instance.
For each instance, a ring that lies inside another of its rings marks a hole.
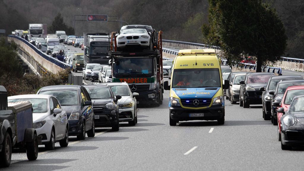
[[[68,65],[62,61],[59,61],[58,59],[55,59],[53,57],[48,56],[47,54],[43,53],[42,51],[40,51],[39,49],[37,49],[37,47],[35,47],[33,44],[29,43],[28,41],[26,41],[25,39],[22,39],[21,37],[18,36],[13,36],[13,35],[9,35],[8,37],[12,37],[12,38],[16,38],[20,41],[22,41],[23,43],[25,43],[26,45],[28,45],[29,47],[31,47],[37,54],[39,54],[41,57],[43,57],[44,59],[54,63],[55,65],[59,66],[60,68],[70,68],[71,65]]]

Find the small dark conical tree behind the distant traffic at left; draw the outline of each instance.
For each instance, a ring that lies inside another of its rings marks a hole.
[[[61,16],[60,13],[57,14],[57,16],[54,18],[52,25],[50,25],[48,28],[48,33],[56,33],[57,30],[62,30],[65,31],[65,33],[67,35],[74,35],[75,34],[75,30],[73,27],[69,27],[67,26],[64,22],[63,22],[63,18]]]

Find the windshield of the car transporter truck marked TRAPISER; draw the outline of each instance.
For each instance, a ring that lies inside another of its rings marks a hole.
[[[114,64],[115,75],[138,75],[151,77],[153,74],[152,58],[117,59]]]

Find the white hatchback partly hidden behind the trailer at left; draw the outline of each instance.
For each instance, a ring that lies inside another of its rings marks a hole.
[[[10,96],[8,103],[29,101],[33,106],[33,128],[37,135],[42,137],[42,144],[48,150],[54,150],[55,142],[61,147],[69,144],[67,114],[62,110],[60,103],[54,96],[27,94]]]

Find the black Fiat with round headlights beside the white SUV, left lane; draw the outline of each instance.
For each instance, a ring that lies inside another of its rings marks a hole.
[[[112,127],[112,131],[119,131],[120,95],[113,95],[109,85],[84,85],[92,99],[96,127]]]

